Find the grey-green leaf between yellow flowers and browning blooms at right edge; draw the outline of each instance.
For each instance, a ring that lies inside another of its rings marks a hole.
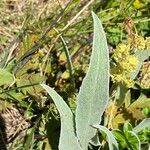
[[[149,58],[150,50],[144,50],[144,51],[138,50],[134,55],[138,58],[139,64],[138,64],[137,68],[135,69],[135,71],[133,71],[130,75],[132,80],[134,80],[136,78],[136,76],[138,75],[138,73],[143,65],[143,62]]]

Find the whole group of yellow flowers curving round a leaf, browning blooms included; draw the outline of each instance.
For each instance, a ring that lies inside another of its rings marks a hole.
[[[135,81],[131,79],[131,73],[139,64],[138,58],[134,55],[136,51],[150,50],[150,37],[146,39],[139,35],[129,37],[126,43],[119,44],[112,55],[115,65],[111,68],[113,82],[121,83],[128,88],[134,86]],[[148,67],[143,66],[138,83],[142,88],[150,88],[150,63]],[[148,68],[145,71],[144,68]]]

